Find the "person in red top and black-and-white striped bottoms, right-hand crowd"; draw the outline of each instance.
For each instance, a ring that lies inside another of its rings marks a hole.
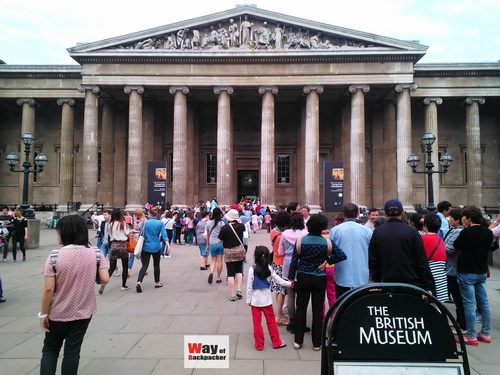
[[[435,213],[430,213],[424,217],[424,232],[422,241],[424,242],[425,254],[429,261],[432,277],[434,278],[434,290],[432,293],[440,301],[448,300],[448,283],[446,280],[446,246],[438,236],[437,232],[441,227],[441,219]]]

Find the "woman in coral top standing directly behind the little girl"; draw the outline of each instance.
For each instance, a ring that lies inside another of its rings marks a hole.
[[[284,255],[278,253],[281,233],[290,226],[290,214],[286,211],[278,211],[274,216],[276,227],[271,230],[271,245],[273,247],[273,262],[271,268],[279,277],[283,275]],[[287,288],[271,279],[271,292],[276,293],[276,323],[279,326],[286,326],[289,323],[288,317],[283,313],[283,304],[287,294]]]

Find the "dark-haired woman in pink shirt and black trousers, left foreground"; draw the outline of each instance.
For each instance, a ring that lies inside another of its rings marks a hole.
[[[63,217],[57,222],[56,232],[63,247],[53,251],[45,262],[45,287],[38,313],[40,327],[45,331],[40,374],[56,373],[63,342],[61,372],[76,374],[83,337],[97,311],[96,273],[100,282],[106,284],[108,263],[98,248],[90,246],[87,225],[81,216]]]

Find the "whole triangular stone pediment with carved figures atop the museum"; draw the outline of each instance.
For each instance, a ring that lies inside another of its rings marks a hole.
[[[426,46],[253,7],[177,22],[69,48],[79,62],[102,58],[315,55],[405,55],[418,61]]]

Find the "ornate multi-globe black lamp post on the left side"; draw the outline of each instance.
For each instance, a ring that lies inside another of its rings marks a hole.
[[[38,154],[35,158],[35,164],[38,167],[38,170],[30,169],[31,163],[29,161],[29,155],[31,153],[31,145],[35,142],[35,137],[31,133],[25,133],[21,140],[24,143],[24,154],[26,158],[23,162],[23,169],[15,170],[14,167],[19,162],[19,158],[13,152],[11,152],[5,158],[5,162],[9,165],[11,172],[20,172],[24,173],[24,184],[23,184],[23,202],[21,204],[21,208],[23,209],[23,216],[32,219],[35,217],[32,210],[29,210],[30,205],[28,204],[28,176],[30,173],[40,173],[43,171],[43,167],[47,164],[48,159],[44,154]]]

